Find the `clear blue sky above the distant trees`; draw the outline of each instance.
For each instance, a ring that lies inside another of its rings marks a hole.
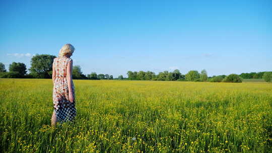
[[[1,1],[0,62],[62,45],[84,74],[271,71],[272,1]]]

